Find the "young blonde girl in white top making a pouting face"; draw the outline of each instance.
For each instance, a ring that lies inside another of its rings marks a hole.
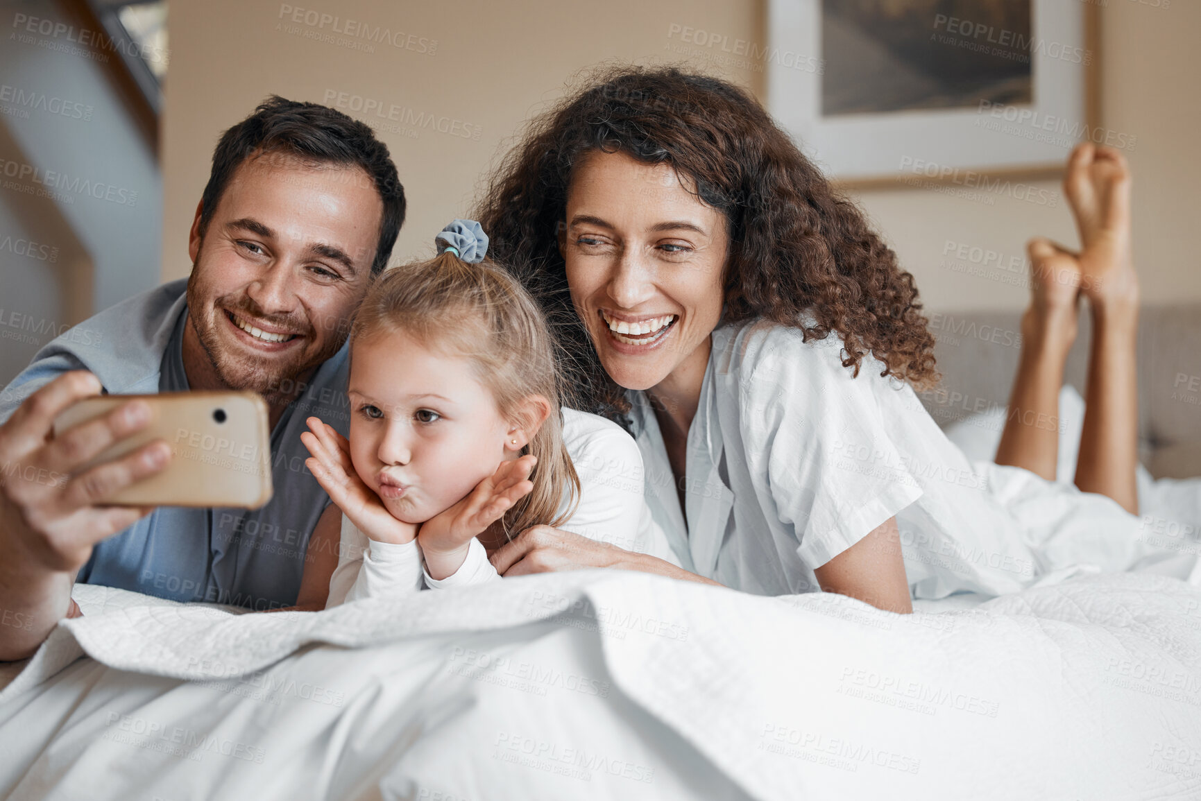
[[[539,525],[619,543],[639,532],[635,548],[667,555],[637,446],[560,410],[546,323],[483,261],[479,225],[456,220],[436,241],[435,259],[386,273],[355,315],[349,441],[317,418],[301,436],[342,512],[327,608],[495,580],[486,551]]]

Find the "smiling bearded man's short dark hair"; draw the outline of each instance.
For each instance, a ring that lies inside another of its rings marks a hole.
[[[301,103],[279,95],[268,97],[255,113],[221,135],[213,153],[213,172],[201,202],[201,237],[208,231],[217,202],[234,172],[251,156],[281,153],[307,162],[358,166],[366,171],[383,201],[380,243],[371,274],[388,265],[392,246],[405,222],[405,187],[388,145],[371,128],[341,112],[318,103]]]

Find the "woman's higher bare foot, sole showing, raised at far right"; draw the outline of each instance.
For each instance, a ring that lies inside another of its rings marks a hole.
[[[1136,309],[1139,276],[1130,244],[1125,159],[1113,148],[1080,144],[1068,159],[1063,187],[1080,232],[1081,292],[1094,307]]]

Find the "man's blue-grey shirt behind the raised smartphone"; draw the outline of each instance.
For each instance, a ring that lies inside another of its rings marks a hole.
[[[107,393],[189,389],[183,334],[186,280],[172,281],[102,311],[47,343],[0,391],[0,422],[67,370],[90,370]],[[305,418],[349,429],[347,346],[321,365],[271,431],[275,494],[259,509],[159,507],[92,550],[78,581],[183,602],[250,609],[295,603],[309,537],[329,496],[305,468]],[[331,545],[336,548],[336,544]]]

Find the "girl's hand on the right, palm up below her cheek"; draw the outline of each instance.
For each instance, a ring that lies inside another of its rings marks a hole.
[[[502,461],[467,497],[422,524],[417,544],[422,546],[430,578],[454,575],[467,557],[472,538],[533,490],[530,473],[537,462],[538,458],[530,454]]]

